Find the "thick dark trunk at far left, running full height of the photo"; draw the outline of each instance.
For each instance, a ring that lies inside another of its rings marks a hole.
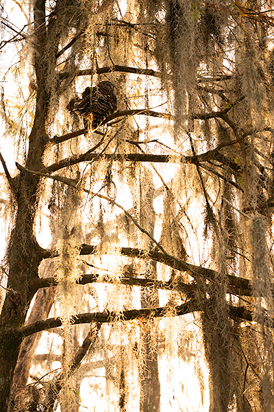
[[[37,0],[34,3],[34,30],[37,99],[34,126],[29,135],[27,167],[37,170],[42,164],[42,155],[48,141],[46,122],[49,96],[45,89],[47,76],[45,0]],[[32,281],[38,277],[38,266],[42,260],[41,250],[34,234],[39,181],[37,176],[21,172],[10,182],[17,210],[7,253],[8,293],[0,319],[1,412],[8,410],[14,369],[21,345],[21,340],[16,338],[14,328],[25,322],[27,309],[36,293],[36,289],[32,287]]]

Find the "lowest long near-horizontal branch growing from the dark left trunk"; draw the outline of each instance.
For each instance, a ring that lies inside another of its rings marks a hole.
[[[75,317],[71,319],[71,322],[75,325],[90,322],[113,323],[119,321],[130,321],[133,319],[180,316],[182,314],[195,312],[196,310],[198,310],[197,303],[195,299],[192,299],[185,304],[175,307],[163,306],[162,308],[133,309],[121,312],[80,313],[75,315]],[[42,330],[59,328],[60,326],[62,326],[62,320],[60,317],[42,319],[42,321],[37,321],[29,325],[22,326],[21,328],[14,329],[13,334],[15,334],[18,339],[22,339],[31,334],[42,332]]]

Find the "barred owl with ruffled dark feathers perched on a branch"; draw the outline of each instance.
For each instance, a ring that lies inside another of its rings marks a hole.
[[[94,132],[117,109],[117,99],[111,82],[104,81],[95,87],[86,87],[82,99],[73,99],[66,106],[69,111],[84,119],[85,135]]]

